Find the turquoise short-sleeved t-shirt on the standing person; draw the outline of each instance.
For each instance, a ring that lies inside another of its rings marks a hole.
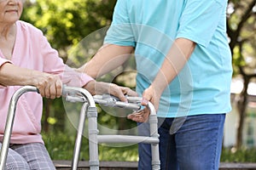
[[[224,0],[118,0],[105,43],[135,48],[137,92],[160,71],[175,39],[196,42],[188,63],[166,88],[158,116],[226,113],[230,106],[231,54]],[[163,80],[164,81],[164,80]]]

